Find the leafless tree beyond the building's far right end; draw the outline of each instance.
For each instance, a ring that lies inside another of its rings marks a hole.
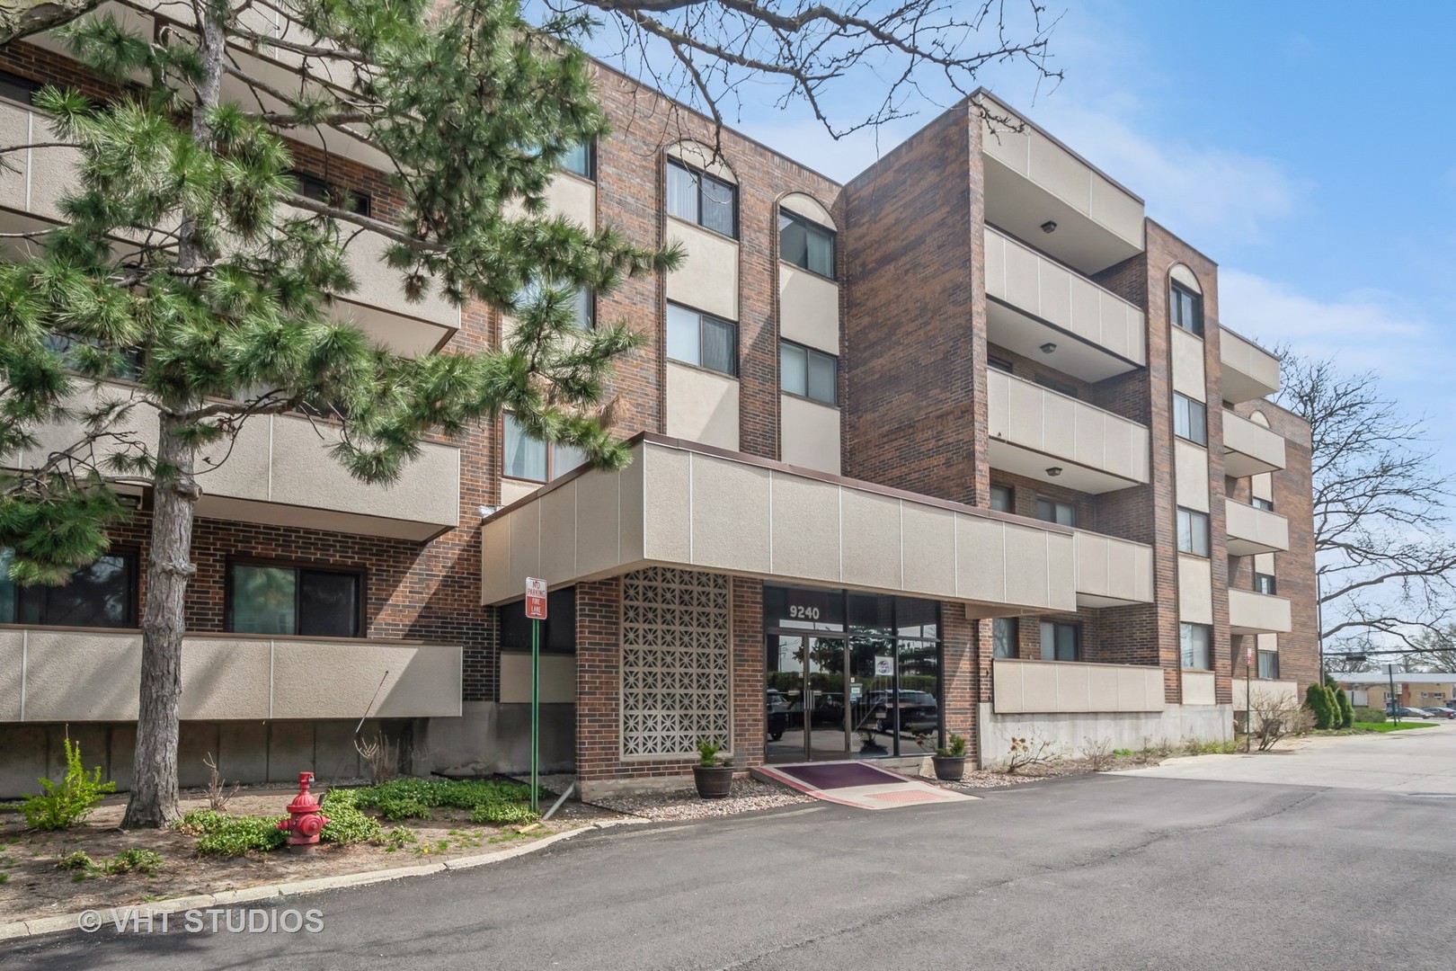
[[[1373,371],[1283,354],[1278,403],[1309,422],[1321,638],[1414,645],[1452,619],[1456,543],[1452,479],[1423,418],[1409,418]]]

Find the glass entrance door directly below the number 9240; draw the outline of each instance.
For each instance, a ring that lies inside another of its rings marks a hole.
[[[764,757],[847,757],[852,706],[844,639],[770,633],[764,659]]]

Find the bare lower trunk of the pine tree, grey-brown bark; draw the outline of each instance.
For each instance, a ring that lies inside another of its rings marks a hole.
[[[160,828],[178,818],[178,703],[182,635],[192,563],[192,514],[201,489],[192,476],[197,447],[178,438],[179,422],[162,415],[157,477],[141,617],[141,703],[137,709],[135,782],[122,828]]]

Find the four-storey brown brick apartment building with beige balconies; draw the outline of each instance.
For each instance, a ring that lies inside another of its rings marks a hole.
[[[44,131],[39,83],[105,95],[60,49],[0,48],[7,144]],[[648,338],[613,387],[632,464],[507,416],[379,489],[301,418],[248,425],[202,476],[183,785],[205,753],[232,779],[357,774],[361,718],[416,772],[521,769],[526,576],[552,590],[543,753],[588,795],[680,783],[700,737],[737,766],[1227,738],[1246,664],[1258,690],[1316,677],[1309,429],[1222,326],[1216,263],[1139,197],[1029,119],[984,122],[1018,116],[989,93],[840,185],[732,131],[713,156],[706,119],[597,79],[616,132],[552,208],[687,255],[579,301]],[[0,218],[57,220],[66,150],[16,156]],[[393,211],[380,172],[296,159]],[[511,326],[406,303],[380,237],[354,249],[339,313],[399,352]],[[67,725],[125,786],[147,526],[143,495],[77,582],[0,585],[0,795],[54,772]]]

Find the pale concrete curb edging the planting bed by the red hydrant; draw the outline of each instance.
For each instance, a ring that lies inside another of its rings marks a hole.
[[[58,917],[16,920],[13,923],[0,924],[0,940],[38,938],[41,935],[58,933],[63,930],[80,930],[82,914],[98,914],[100,917],[100,926],[106,927],[115,922],[118,911],[125,914],[124,920],[131,920],[134,914],[146,919],[157,914],[201,910],[204,907],[233,907],[236,904],[253,900],[269,900],[272,897],[301,897],[304,894],[319,894],[326,889],[384,884],[393,879],[408,879],[411,876],[430,876],[431,873],[443,873],[444,871],[473,869],[476,866],[488,866],[491,863],[504,863],[505,860],[515,859],[517,856],[526,856],[527,853],[534,853],[536,850],[543,850],[552,843],[561,843],[562,840],[569,840],[571,837],[581,836],[582,833],[607,830],[616,825],[630,825],[633,823],[648,823],[648,820],[613,820],[607,823],[596,823],[577,830],[553,833],[552,836],[542,837],[534,843],[523,843],[504,850],[478,853],[476,856],[457,856],[441,863],[396,866],[387,871],[320,876],[317,879],[293,881],[290,884],[265,884],[261,887],[245,887],[243,889],[223,889],[215,894],[195,894],[191,897],[176,897],[173,900],[159,900],[154,904],[135,904],[131,907],[92,907],[87,910],[79,910],[74,914],[61,914]]]

